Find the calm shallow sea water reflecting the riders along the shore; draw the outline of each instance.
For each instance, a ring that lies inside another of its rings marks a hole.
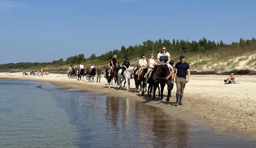
[[[1,148],[255,146],[141,102],[46,82],[0,80]]]

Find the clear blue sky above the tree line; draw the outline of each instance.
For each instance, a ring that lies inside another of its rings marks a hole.
[[[151,39],[256,37],[256,1],[0,0],[0,63],[101,55]]]

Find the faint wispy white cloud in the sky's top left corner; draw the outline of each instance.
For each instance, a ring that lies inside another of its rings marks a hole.
[[[0,0],[0,11],[9,11],[14,8],[29,8],[29,5],[21,4],[17,2],[6,2]]]

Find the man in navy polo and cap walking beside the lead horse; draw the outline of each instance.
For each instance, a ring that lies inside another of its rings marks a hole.
[[[175,67],[173,68],[170,75],[166,77],[166,79],[168,79],[174,73],[174,71],[177,69],[177,74],[176,74],[176,79],[175,79],[176,87],[177,87],[176,103],[171,104],[174,106],[183,105],[183,103],[181,102],[181,99],[183,97],[183,91],[184,91],[185,85],[186,85],[186,83],[189,82],[189,77],[190,77],[189,64],[185,62],[185,56],[181,55],[179,57],[179,60],[180,60],[180,62],[175,64]],[[187,71],[188,71],[188,79],[186,77]]]

